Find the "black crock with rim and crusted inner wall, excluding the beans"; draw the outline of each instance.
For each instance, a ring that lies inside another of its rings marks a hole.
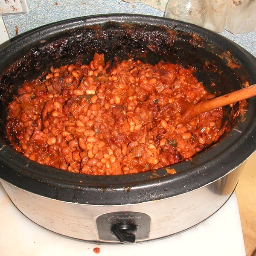
[[[131,20],[131,17],[133,18]],[[244,121],[232,120],[231,131],[217,144],[170,168],[121,176],[64,172],[23,157],[6,140],[6,106],[17,87],[55,66],[90,61],[101,52],[109,59],[134,57],[149,63],[160,59],[197,69],[195,76],[219,94],[256,82],[256,59],[247,51],[198,26],[143,15],[81,17],[45,26],[17,39],[0,52],[1,139],[0,178],[29,192],[81,204],[118,205],[180,195],[224,177],[255,151],[255,99]],[[3,57],[2,57],[3,56]],[[207,72],[205,73],[205,70]],[[216,72],[218,70],[218,72]],[[214,83],[216,86],[212,87]],[[15,86],[14,86],[15,84]],[[223,84],[227,84],[224,87]],[[226,108],[227,113],[230,108]]]

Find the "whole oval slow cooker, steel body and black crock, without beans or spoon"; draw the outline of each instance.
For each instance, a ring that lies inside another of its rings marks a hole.
[[[230,131],[214,146],[165,168],[136,175],[88,176],[32,162],[6,139],[12,94],[51,65],[139,58],[195,67],[204,86],[223,94],[256,82],[256,59],[221,35],[198,26],[143,15],[66,20],[18,38],[0,52],[0,180],[15,206],[35,223],[93,242],[142,242],[174,235],[204,221],[233,193],[243,163],[256,148],[255,99],[244,116],[225,108]],[[213,87],[212,84],[215,84]]]

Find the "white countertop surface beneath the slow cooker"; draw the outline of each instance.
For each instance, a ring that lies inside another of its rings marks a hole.
[[[1,256],[245,256],[234,193],[224,206],[196,227],[166,239],[133,245],[96,245],[55,234],[26,218],[0,184]]]

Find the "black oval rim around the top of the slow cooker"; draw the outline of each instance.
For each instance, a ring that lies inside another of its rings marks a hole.
[[[90,24],[106,20],[125,22],[131,20],[131,17],[133,17],[133,22],[143,23],[146,21],[166,25],[172,29],[183,28],[199,35],[203,34],[208,41],[214,41],[215,44],[221,41],[222,44],[232,45],[235,55],[243,54],[246,57],[244,65],[252,73],[250,82],[256,81],[256,73],[253,72],[256,59],[227,38],[192,24],[148,15],[95,15],[61,21],[18,38],[0,54],[12,53],[18,43],[18,47],[21,48],[22,45],[33,44],[44,38],[45,35],[54,33],[59,27],[67,29],[67,27],[77,26],[78,23],[81,25],[82,23]],[[244,122],[238,122],[225,138],[193,157],[192,161],[171,166],[177,170],[175,175],[169,175],[165,169],[120,176],[73,174],[35,163],[17,153],[1,138],[0,178],[38,195],[82,204],[137,204],[177,196],[224,177],[254,152],[256,121],[253,110],[256,109],[256,99],[250,99],[249,103]],[[218,157],[218,161],[215,159],[216,157]]]

